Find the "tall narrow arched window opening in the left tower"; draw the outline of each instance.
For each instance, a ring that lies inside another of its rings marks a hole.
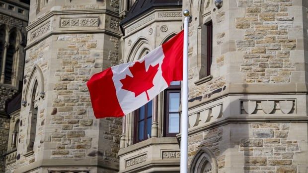
[[[32,95],[31,95],[31,107],[29,115],[29,124],[28,128],[30,128],[30,133],[28,134],[28,140],[27,140],[27,152],[33,151],[34,141],[35,141],[35,134],[36,134],[36,123],[37,123],[37,101],[39,98],[38,94],[38,83],[35,80]]]

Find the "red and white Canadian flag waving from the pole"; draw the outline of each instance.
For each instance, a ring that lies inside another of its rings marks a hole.
[[[96,118],[119,117],[142,107],[182,80],[183,31],[145,57],[94,74],[87,82]]]

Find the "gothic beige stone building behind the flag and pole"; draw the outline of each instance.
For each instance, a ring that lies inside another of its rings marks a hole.
[[[104,119],[85,83],[181,31],[183,9],[189,172],[308,172],[307,0],[27,3],[0,1],[0,173],[179,172],[180,81]]]

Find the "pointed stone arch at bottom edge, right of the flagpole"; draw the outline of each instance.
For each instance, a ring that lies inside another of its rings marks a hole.
[[[191,161],[189,173],[218,173],[215,154],[208,147],[199,149]]]

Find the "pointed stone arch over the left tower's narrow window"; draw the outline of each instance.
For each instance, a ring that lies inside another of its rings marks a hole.
[[[32,90],[33,90],[33,86],[35,85],[36,81],[38,83],[40,97],[44,98],[45,91],[44,91],[43,72],[37,64],[34,64],[34,67],[32,68],[32,71],[29,76],[29,80],[25,87],[24,101],[26,101],[26,103],[31,102]]]

